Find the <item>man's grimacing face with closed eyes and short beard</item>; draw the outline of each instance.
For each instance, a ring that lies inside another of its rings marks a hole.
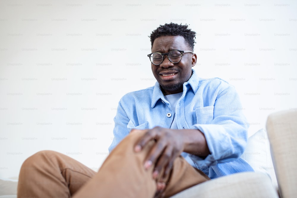
[[[158,37],[151,48],[152,53],[168,53],[171,50],[192,51],[181,36]],[[151,70],[166,94],[176,94],[183,91],[183,84],[191,77],[192,66],[196,64],[196,59],[196,54],[184,53],[180,62],[172,63],[165,55],[161,64],[151,64]]]

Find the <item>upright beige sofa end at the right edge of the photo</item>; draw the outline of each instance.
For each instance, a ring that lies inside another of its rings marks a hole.
[[[281,197],[297,194],[297,111],[268,116],[266,130]]]

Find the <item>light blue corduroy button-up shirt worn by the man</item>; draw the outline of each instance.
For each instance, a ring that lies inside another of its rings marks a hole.
[[[158,82],[153,87],[124,95],[114,118],[114,138],[109,152],[132,129],[170,128],[173,115]],[[247,145],[249,125],[238,94],[229,83],[219,78],[200,79],[192,70],[192,76],[183,84],[175,117],[178,129],[198,129],[206,138],[210,151],[206,158],[200,158],[196,153],[181,153],[193,167],[211,179],[253,171],[240,157]]]

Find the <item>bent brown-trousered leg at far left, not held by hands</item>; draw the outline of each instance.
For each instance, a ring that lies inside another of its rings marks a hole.
[[[71,197],[96,174],[80,162],[55,151],[40,151],[23,163],[18,198]]]

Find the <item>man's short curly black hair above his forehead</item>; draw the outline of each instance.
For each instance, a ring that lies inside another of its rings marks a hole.
[[[194,50],[196,32],[188,29],[188,25],[178,25],[177,23],[165,23],[160,25],[157,29],[152,31],[151,35],[151,47],[153,47],[154,40],[162,36],[182,36],[185,39],[186,44]]]

